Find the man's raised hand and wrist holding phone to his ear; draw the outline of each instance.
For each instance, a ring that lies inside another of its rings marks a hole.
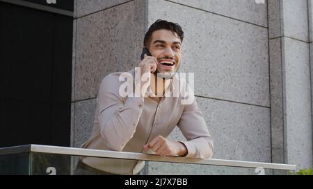
[[[145,57],[138,64],[141,67],[141,78],[144,76],[144,80],[141,80],[141,91],[146,91],[147,87],[150,86],[151,73],[157,71],[157,57],[148,56],[145,54]]]

